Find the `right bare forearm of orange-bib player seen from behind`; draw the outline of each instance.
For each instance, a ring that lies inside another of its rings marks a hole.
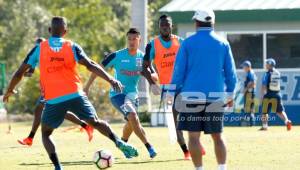
[[[95,61],[92,61],[88,58],[82,58],[78,61],[79,64],[84,65],[90,72],[92,72],[94,75],[99,76],[109,82],[113,89],[117,92],[122,91],[122,84],[115,80],[113,77],[111,77],[99,64],[97,64]]]

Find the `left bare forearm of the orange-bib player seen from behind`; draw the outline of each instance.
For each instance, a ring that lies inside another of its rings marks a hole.
[[[15,72],[13,78],[9,82],[8,88],[4,94],[3,101],[8,102],[9,97],[16,93],[15,88],[20,83],[24,74],[31,68],[29,64],[22,64],[19,69]]]

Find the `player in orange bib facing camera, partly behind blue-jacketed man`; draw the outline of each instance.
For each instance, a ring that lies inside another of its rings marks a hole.
[[[170,16],[160,16],[158,25],[160,35],[154,38],[146,46],[143,73],[151,85],[153,93],[159,94],[160,91],[158,90],[158,85],[156,85],[156,82],[153,80],[151,76],[152,74],[150,73],[150,68],[153,62],[159,76],[159,83],[162,86],[160,101],[162,103],[168,90],[168,85],[171,83],[176,54],[183,39],[172,34],[173,23]],[[177,125],[178,112],[174,108],[172,111],[175,125]],[[191,155],[185,143],[182,131],[177,130],[176,134],[177,142],[184,153],[184,159],[190,160]],[[202,152],[203,154],[205,153],[204,149]]]

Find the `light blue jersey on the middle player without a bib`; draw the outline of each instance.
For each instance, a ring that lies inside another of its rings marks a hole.
[[[119,80],[124,86],[123,94],[126,94],[130,99],[138,97],[138,82],[140,72],[142,70],[143,52],[137,51],[136,55],[129,54],[127,48],[116,51],[108,55],[102,65],[105,68],[114,69],[114,77]],[[113,89],[110,90],[110,97],[118,95]]]

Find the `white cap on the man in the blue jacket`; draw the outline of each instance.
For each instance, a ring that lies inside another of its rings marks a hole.
[[[209,22],[214,24],[215,23],[215,13],[212,9],[198,9],[196,10],[193,20],[201,21],[201,22]]]

